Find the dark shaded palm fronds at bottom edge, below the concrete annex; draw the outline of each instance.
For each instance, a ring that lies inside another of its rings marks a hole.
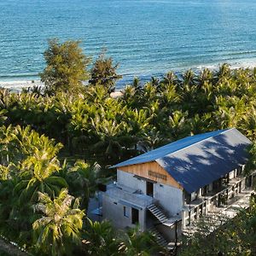
[[[83,234],[84,255],[131,255],[149,256],[166,253],[156,238],[148,232],[139,231],[138,227],[117,232],[109,222],[87,221]]]

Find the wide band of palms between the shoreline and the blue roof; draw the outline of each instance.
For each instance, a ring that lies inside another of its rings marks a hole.
[[[106,61],[104,55],[100,60]],[[236,127],[256,138],[253,70],[224,64],[217,72],[169,72],[144,85],[134,79],[118,98],[109,96],[108,86],[92,84],[79,95],[0,90],[3,123],[31,125],[62,143],[65,154],[83,155],[103,168],[190,134]]]

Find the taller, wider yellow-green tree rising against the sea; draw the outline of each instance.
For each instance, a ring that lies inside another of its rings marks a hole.
[[[89,79],[86,67],[90,59],[79,48],[79,41],[61,44],[58,39],[49,40],[44,58],[46,67],[40,77],[49,94],[60,91],[78,93],[83,90],[83,81]]]

